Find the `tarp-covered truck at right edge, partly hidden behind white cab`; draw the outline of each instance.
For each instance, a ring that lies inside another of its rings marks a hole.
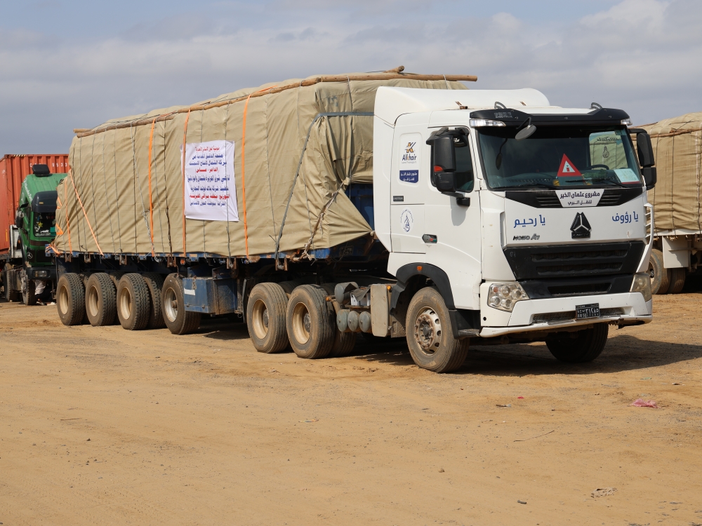
[[[677,294],[702,269],[702,112],[637,127],[656,157],[658,184],[649,191],[654,248],[649,274],[654,294]],[[635,134],[634,134],[635,135]]]

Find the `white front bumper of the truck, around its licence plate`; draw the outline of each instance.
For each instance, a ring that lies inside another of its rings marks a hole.
[[[481,291],[482,297],[482,291]],[[602,316],[600,318],[575,319],[576,305],[598,303]],[[492,309],[484,305],[482,309]],[[489,311],[485,311],[489,313]],[[625,292],[623,294],[605,294],[591,296],[559,297],[547,299],[526,299],[515,304],[512,313],[503,313],[503,326],[483,327],[481,337],[495,337],[515,332],[533,330],[559,330],[578,325],[592,323],[612,323],[627,325],[634,323],[649,323],[652,319],[653,302],[644,302],[640,292]],[[487,318],[487,316],[484,316]],[[495,318],[491,316],[491,318]],[[484,322],[483,322],[484,323]],[[500,324],[502,325],[502,323]]]

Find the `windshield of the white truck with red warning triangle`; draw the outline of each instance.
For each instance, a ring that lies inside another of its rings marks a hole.
[[[517,128],[479,128],[489,187],[636,187],[641,176],[623,126],[538,126],[515,140]]]

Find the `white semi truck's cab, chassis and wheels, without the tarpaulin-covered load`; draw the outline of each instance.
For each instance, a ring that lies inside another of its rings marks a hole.
[[[449,372],[470,343],[544,341],[559,360],[587,362],[609,325],[651,321],[656,174],[648,135],[635,151],[625,112],[555,107],[532,89],[392,86],[373,107],[325,114],[373,119],[372,186],[342,187],[372,227],[360,243],[233,260],[57,250],[64,323],[84,317],[81,295],[93,325],[112,323],[115,302],[125,328],[160,309],[177,334],[236,312],[258,351],[342,356],[365,332],[405,337],[418,366]]]

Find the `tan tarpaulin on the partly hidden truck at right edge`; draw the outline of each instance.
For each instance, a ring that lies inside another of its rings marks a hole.
[[[654,147],[658,182],[649,190],[649,202],[654,205],[656,231],[702,231],[702,112],[637,128],[647,130]]]

